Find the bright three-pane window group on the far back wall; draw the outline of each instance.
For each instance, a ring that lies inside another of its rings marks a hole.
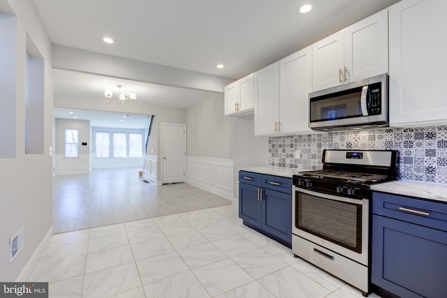
[[[142,133],[95,131],[96,158],[141,158]],[[140,131],[140,130],[134,130]]]

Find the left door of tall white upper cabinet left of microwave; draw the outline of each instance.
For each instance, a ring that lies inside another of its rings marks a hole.
[[[278,63],[254,73],[254,134],[277,133],[278,123]]]

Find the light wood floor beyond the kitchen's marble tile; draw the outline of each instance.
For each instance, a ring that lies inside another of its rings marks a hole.
[[[53,179],[54,232],[69,232],[231,204],[189,184],[146,184],[140,169],[94,170]]]

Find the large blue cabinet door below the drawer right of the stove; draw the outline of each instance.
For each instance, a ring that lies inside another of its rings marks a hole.
[[[446,297],[447,232],[372,216],[375,285],[400,297]]]

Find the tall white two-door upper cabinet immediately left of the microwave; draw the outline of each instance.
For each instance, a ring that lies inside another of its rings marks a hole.
[[[257,71],[254,81],[255,135],[310,131],[311,47]]]

